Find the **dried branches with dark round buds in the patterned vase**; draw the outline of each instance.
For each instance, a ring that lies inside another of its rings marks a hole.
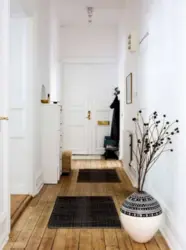
[[[179,133],[175,125],[178,120],[170,123],[163,115],[160,119],[155,111],[144,121],[142,111],[132,119],[135,124],[136,148],[133,154],[136,158],[138,172],[138,192],[143,192],[148,172],[165,152],[173,152],[172,139]]]

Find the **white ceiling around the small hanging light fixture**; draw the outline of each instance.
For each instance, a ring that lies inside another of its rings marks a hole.
[[[86,7],[93,7],[93,24],[118,24],[125,7],[125,0],[54,0],[56,15],[61,25],[86,25]]]

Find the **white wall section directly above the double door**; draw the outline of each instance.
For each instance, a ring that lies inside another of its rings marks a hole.
[[[117,26],[61,28],[61,58],[117,57]]]

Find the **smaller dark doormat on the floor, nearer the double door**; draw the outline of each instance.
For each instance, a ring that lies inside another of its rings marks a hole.
[[[114,183],[120,179],[115,169],[80,169],[77,182]]]

